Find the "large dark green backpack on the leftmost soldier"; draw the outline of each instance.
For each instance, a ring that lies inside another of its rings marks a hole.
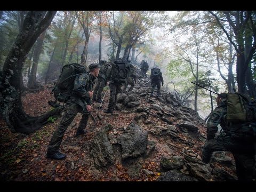
[[[59,102],[67,102],[74,87],[74,81],[77,75],[87,73],[86,68],[78,63],[71,63],[63,66],[61,74],[55,82],[52,93]],[[51,93],[51,94],[52,94]]]

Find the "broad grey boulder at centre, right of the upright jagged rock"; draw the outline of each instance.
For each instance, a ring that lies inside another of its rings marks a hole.
[[[148,133],[131,123],[125,133],[117,137],[117,142],[122,146],[122,159],[137,157],[147,150]]]

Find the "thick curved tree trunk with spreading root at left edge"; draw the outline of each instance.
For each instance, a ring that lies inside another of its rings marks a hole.
[[[20,77],[29,50],[41,33],[50,25],[57,11],[29,11],[3,67],[3,102],[1,112],[12,132],[31,133],[42,127],[47,118],[59,113],[61,108],[40,117],[30,117],[22,108]]]

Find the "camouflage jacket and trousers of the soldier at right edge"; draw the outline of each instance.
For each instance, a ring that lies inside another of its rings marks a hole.
[[[226,114],[227,102],[226,99],[222,99],[207,121],[207,141],[204,144],[202,161],[209,163],[214,151],[231,151],[235,158],[238,180],[252,180],[255,155],[253,143],[234,139],[227,127]],[[221,125],[224,133],[214,138],[218,124]]]

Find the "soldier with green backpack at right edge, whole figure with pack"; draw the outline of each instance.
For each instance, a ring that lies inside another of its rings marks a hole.
[[[255,171],[256,114],[253,110],[251,113],[249,108],[246,114],[241,111],[238,113],[239,107],[244,106],[242,110],[246,111],[246,106],[249,106],[239,93],[221,93],[217,97],[217,104],[218,107],[212,111],[207,121],[207,141],[202,161],[209,163],[214,151],[230,151],[235,158],[238,180],[252,181]],[[253,113],[254,117],[249,117]],[[223,132],[215,137],[218,124]]]

